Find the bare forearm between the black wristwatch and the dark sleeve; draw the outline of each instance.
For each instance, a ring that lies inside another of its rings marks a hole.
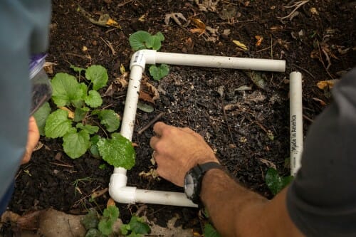
[[[204,176],[201,200],[222,236],[301,236],[286,211],[286,190],[268,201],[229,174],[212,169]]]

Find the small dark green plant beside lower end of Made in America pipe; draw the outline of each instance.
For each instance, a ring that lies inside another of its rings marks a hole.
[[[278,194],[293,180],[293,176],[281,177],[276,169],[269,168],[266,174],[266,184],[273,195]]]

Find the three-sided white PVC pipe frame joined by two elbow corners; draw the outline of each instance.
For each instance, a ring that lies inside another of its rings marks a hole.
[[[284,60],[268,60],[253,58],[230,58],[221,56],[199,56],[183,53],[158,53],[152,50],[141,50],[134,53],[130,63],[130,82],[127,88],[125,110],[122,117],[122,136],[132,139],[135,126],[137,102],[140,93],[142,73],[146,64],[167,63],[174,65],[190,65],[211,68],[235,68],[249,70],[267,70],[282,72],[286,69]],[[127,185],[127,170],[115,167],[110,177],[109,194],[115,201],[123,204],[136,202],[147,204],[163,204],[172,206],[197,207],[187,199],[184,193],[172,191],[152,191],[137,189]]]

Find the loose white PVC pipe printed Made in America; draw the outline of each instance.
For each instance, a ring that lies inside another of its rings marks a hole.
[[[303,152],[302,74],[292,72],[289,78],[290,175],[295,177],[301,167]]]

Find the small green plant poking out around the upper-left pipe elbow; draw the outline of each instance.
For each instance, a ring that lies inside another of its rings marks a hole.
[[[164,36],[161,32],[152,36],[147,31],[137,31],[132,33],[129,38],[130,46],[134,51],[140,49],[153,49],[158,51],[161,48],[161,41],[164,41]],[[150,75],[154,80],[161,80],[169,73],[169,66],[167,64],[151,65]]]

